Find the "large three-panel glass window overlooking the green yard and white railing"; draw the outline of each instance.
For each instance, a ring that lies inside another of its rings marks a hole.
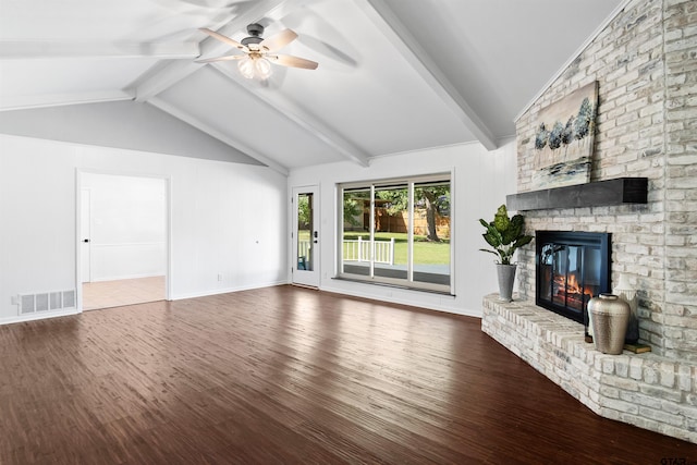
[[[339,187],[340,277],[451,292],[449,174]]]

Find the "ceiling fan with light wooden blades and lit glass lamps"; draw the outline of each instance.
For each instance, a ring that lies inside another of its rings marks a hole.
[[[200,30],[215,39],[241,50],[244,54],[228,54],[196,60],[196,62],[211,63],[215,61],[240,60],[237,63],[240,73],[249,79],[253,77],[261,79],[269,77],[271,75],[271,63],[280,64],[281,66],[303,68],[306,70],[316,70],[318,66],[318,63],[315,61],[289,54],[278,54],[276,52],[297,38],[297,34],[291,29],[281,30],[279,34],[265,39],[261,38],[264,26],[253,23],[247,26],[249,37],[245,37],[241,41],[233,40],[230,37],[206,27],[201,27]]]

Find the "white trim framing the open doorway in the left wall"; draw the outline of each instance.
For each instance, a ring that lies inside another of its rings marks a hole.
[[[164,181],[164,298],[172,299],[172,179],[169,175],[148,175],[133,172],[75,169],[75,291],[77,311],[83,311],[83,270],[82,270],[82,206],[83,173],[106,174],[129,178],[151,178]]]

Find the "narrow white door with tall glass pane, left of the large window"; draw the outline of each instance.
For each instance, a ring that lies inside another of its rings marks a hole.
[[[319,287],[319,188],[293,187],[293,283]]]

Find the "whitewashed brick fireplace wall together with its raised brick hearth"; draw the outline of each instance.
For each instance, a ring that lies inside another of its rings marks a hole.
[[[509,209],[528,234],[611,234],[610,285],[622,277],[637,291],[651,352],[601,354],[582,323],[537,305],[535,246],[518,250],[514,302],[484,298],[482,330],[599,415],[697,443],[697,69],[684,65],[697,58],[695,17],[694,1],[631,0],[516,121],[516,195],[549,198],[533,184],[537,115],[598,82],[587,186],[644,178],[646,201]]]

